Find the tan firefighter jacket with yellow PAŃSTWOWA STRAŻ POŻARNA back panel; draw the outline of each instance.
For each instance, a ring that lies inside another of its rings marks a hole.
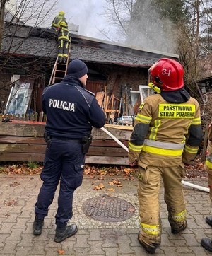
[[[192,163],[202,139],[199,103],[168,103],[160,94],[139,106],[129,141],[129,161],[139,165]]]

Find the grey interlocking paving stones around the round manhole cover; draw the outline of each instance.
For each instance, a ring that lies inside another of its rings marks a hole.
[[[78,233],[62,243],[54,242],[54,214],[57,211],[57,194],[50,206],[49,216],[45,218],[42,235],[33,235],[34,204],[42,184],[39,175],[0,175],[0,256],[133,256],[148,255],[139,245],[139,202],[136,196],[137,181],[115,178],[122,187],[110,185],[114,178],[84,177],[83,185],[76,190],[73,202],[71,223],[78,225]],[[196,185],[207,187],[206,179],[186,180]],[[102,190],[94,187],[105,185]],[[114,191],[109,189],[114,188]],[[86,216],[83,203],[87,199],[108,194],[130,202],[135,213],[125,221],[97,221]],[[160,193],[160,213],[163,223],[162,243],[155,255],[211,255],[200,245],[201,238],[212,238],[212,228],[205,222],[211,214],[209,194],[184,186],[187,202],[188,228],[182,233],[173,235],[167,221],[167,209],[163,200],[163,189]]]

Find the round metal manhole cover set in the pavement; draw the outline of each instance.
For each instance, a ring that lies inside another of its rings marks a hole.
[[[123,199],[101,194],[84,202],[83,212],[98,221],[115,222],[129,219],[134,214],[135,208]]]

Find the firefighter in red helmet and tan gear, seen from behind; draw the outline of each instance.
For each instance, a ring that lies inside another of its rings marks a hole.
[[[202,140],[199,103],[184,89],[179,62],[159,59],[149,69],[157,92],[139,106],[129,140],[129,165],[139,165],[139,243],[155,253],[161,242],[160,180],[163,178],[168,221],[173,234],[187,227],[182,178]]]

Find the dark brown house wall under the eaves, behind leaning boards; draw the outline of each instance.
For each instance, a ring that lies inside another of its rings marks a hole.
[[[97,93],[99,89],[105,91],[106,86],[107,95],[114,93],[114,96],[120,99],[122,97],[122,86],[126,85],[134,91],[139,91],[139,84],[147,84],[147,69],[94,63],[88,63],[88,68],[100,74],[100,78],[98,78],[98,75],[95,77],[90,75],[88,79],[88,90],[93,91],[93,93]],[[11,76],[12,74],[0,72],[0,100],[4,101],[4,104],[7,103],[11,91],[9,86]],[[32,101],[29,107],[33,108],[35,112],[40,112],[42,90],[48,84],[48,79],[45,80],[45,74],[37,76],[37,73],[33,74],[33,71],[30,71],[30,76],[22,75],[20,80],[34,83]],[[0,109],[0,113],[1,111]]]

